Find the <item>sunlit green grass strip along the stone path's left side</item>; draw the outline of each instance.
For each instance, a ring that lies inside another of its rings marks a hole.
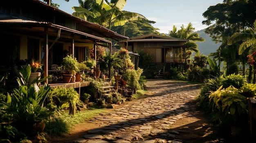
[[[44,132],[50,135],[61,135],[68,133],[73,125],[82,123],[96,115],[106,112],[105,109],[89,108],[85,111],[77,111],[75,115],[70,115],[69,111],[65,110],[54,114],[56,117],[47,123]]]

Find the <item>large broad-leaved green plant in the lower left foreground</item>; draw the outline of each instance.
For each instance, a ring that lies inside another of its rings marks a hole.
[[[39,81],[45,80],[47,77],[32,81],[28,85],[28,75],[31,72],[30,66],[22,66],[20,69],[21,77],[17,78],[18,88],[1,100],[11,114],[13,114],[12,124],[19,131],[29,133],[31,130],[42,132],[45,122],[49,120],[49,116],[53,113],[49,111],[44,103],[51,90],[49,85],[38,86]],[[30,132],[31,133],[31,132]],[[34,132],[35,133],[35,132]]]

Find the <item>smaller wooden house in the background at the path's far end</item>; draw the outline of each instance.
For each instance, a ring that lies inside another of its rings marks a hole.
[[[162,36],[157,34],[148,34],[130,38],[124,45],[128,51],[144,51],[153,57],[152,64],[162,67],[186,64],[186,45],[189,40]]]

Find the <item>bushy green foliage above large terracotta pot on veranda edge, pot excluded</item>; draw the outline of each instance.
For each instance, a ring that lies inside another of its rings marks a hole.
[[[72,74],[73,70],[79,71],[78,64],[79,62],[77,62],[76,58],[73,58],[72,55],[67,55],[63,58],[62,65],[67,74]]]

